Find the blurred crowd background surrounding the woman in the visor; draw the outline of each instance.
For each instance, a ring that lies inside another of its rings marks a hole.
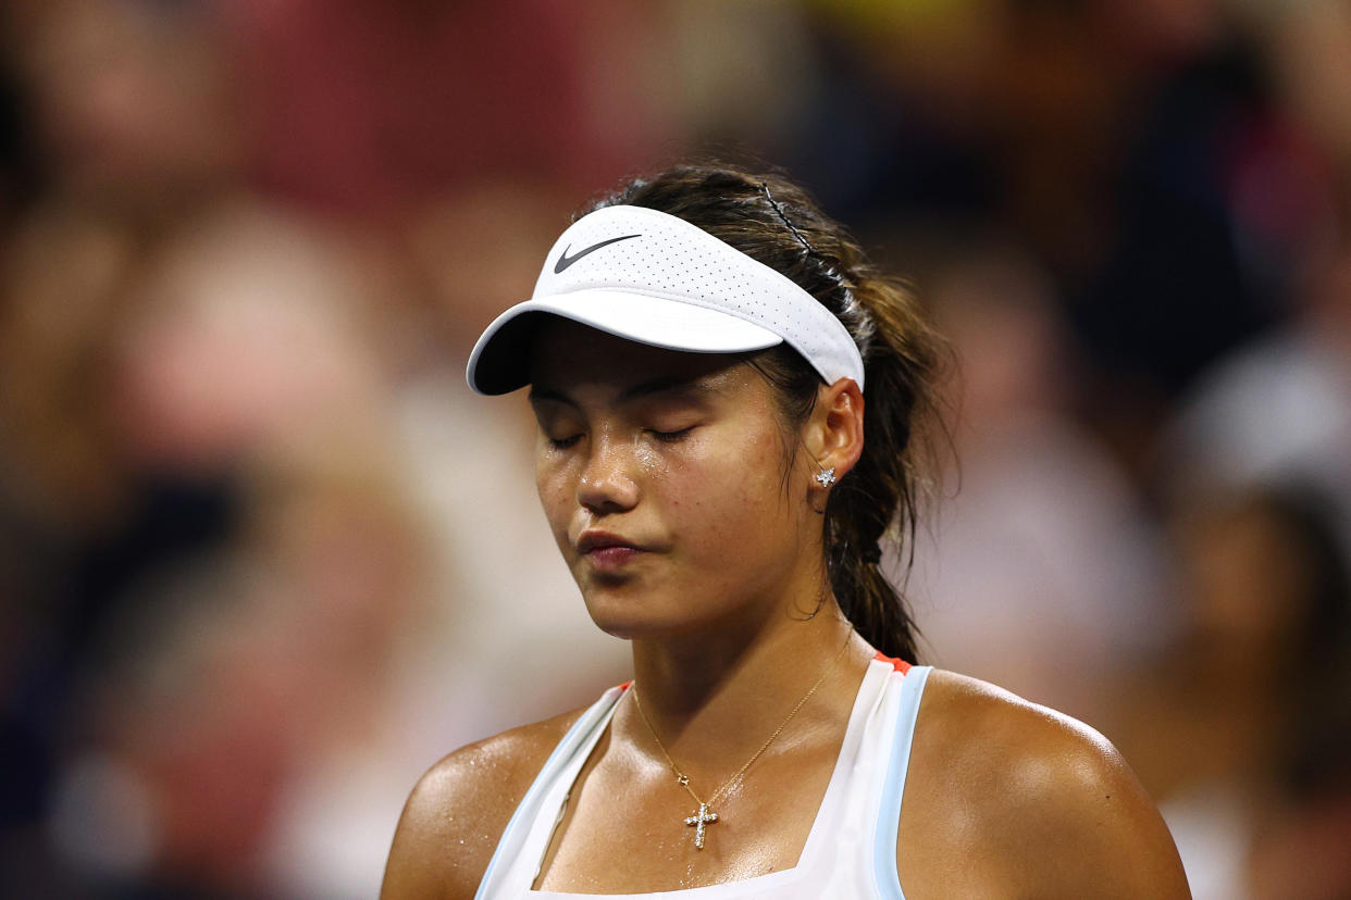
[[[571,212],[713,151],[962,359],[927,661],[1113,739],[1197,897],[1351,897],[1344,0],[0,23],[4,896],[372,897],[427,766],[626,677],[462,372]]]

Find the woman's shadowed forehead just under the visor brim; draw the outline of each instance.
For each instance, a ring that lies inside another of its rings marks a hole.
[[[743,355],[650,347],[555,317],[540,324],[530,359],[531,383],[562,393],[584,385],[620,393],[658,381],[731,387],[748,381],[750,372],[750,367],[743,366]]]

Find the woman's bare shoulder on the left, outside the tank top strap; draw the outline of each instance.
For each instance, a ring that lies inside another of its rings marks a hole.
[[[381,899],[473,897],[512,812],[581,714],[470,743],[428,769],[404,804]]]

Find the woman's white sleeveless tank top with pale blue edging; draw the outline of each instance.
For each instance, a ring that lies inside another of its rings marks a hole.
[[[569,729],[526,792],[476,900],[904,900],[896,870],[896,831],[909,766],[915,718],[931,667],[878,654],[854,699],[835,772],[802,854],[792,869],[686,891],[582,895],[532,891],[563,803],[609,725],[628,685],[611,688]]]

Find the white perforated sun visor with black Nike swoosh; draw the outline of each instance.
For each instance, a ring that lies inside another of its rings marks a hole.
[[[782,273],[697,225],[643,206],[603,206],[554,243],[534,296],[484,331],[466,376],[480,394],[530,383],[532,335],[561,316],[640,344],[736,354],[788,343],[827,385],[863,359],[844,325]]]

